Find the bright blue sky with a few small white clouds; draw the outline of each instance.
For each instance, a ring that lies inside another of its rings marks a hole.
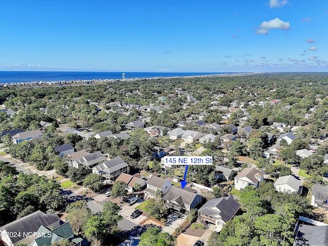
[[[327,72],[328,1],[3,1],[0,70]]]

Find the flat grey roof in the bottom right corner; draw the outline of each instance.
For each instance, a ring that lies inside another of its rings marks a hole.
[[[294,246],[328,246],[328,225],[300,224]]]

